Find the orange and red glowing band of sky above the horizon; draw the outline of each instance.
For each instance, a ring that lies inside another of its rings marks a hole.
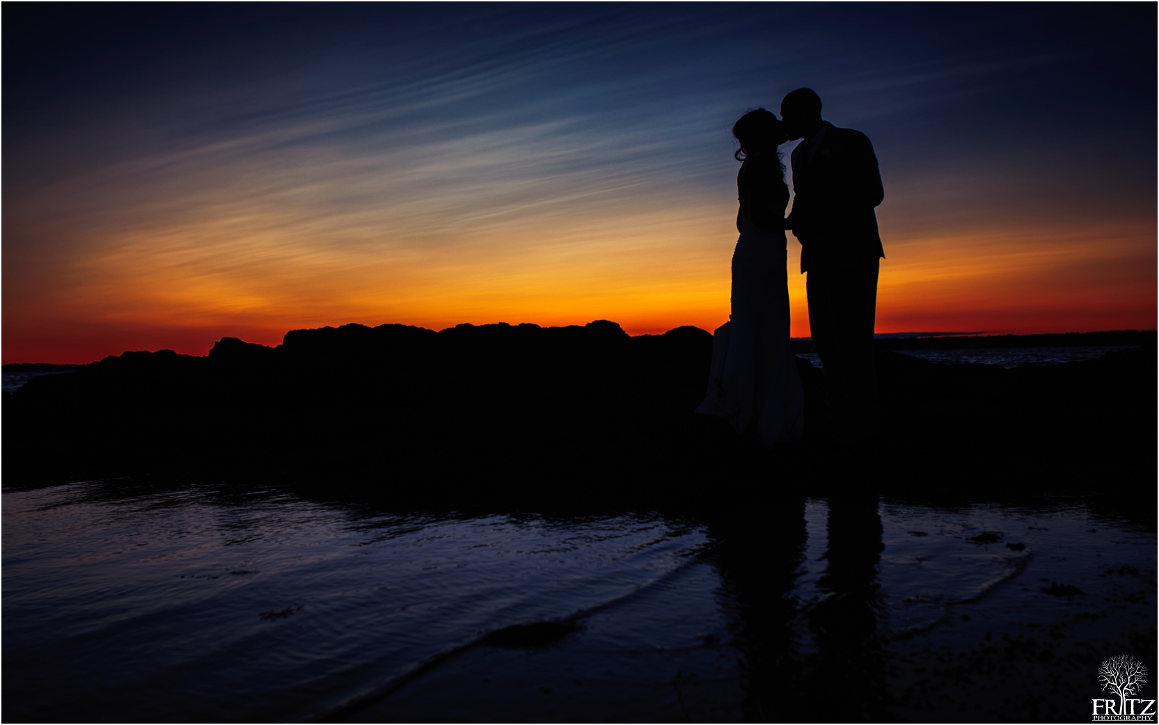
[[[43,332],[21,325],[13,335],[9,323],[3,358],[87,362],[140,349],[205,354],[224,336],[277,345],[290,329],[349,322],[443,329],[612,320],[641,335],[684,324],[712,331],[727,321],[735,243],[729,215],[690,205],[676,218],[567,221],[551,243],[537,243],[548,229],[529,225],[522,239],[510,228],[466,239],[431,235],[429,251],[399,254],[382,254],[382,247],[321,254],[316,246],[294,249],[276,234],[207,243],[224,235],[220,224],[102,240],[96,247],[109,251],[82,262],[86,281],[73,291],[81,314]],[[887,217],[883,236],[879,332],[1156,327],[1153,229],[1146,225],[1121,225],[1113,234],[1101,228],[1098,236],[998,228],[906,239],[904,230],[890,235]],[[1103,241],[1096,261],[1093,239]],[[496,248],[505,252],[493,254]],[[806,337],[799,259],[790,236],[792,334]]]

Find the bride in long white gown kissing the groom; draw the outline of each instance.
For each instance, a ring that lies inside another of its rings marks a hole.
[[[781,122],[759,108],[732,126],[741,144],[736,177],[741,237],[732,252],[732,314],[713,334],[708,395],[697,412],[726,418],[765,446],[799,439],[804,394],[789,350],[785,207],[789,190],[777,147]]]

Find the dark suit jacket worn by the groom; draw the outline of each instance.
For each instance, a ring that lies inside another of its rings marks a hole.
[[[869,138],[825,122],[819,144],[793,149],[793,212],[801,271],[884,257],[874,207],[885,192]]]

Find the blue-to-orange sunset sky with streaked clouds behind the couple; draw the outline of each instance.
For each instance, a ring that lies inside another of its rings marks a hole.
[[[1156,13],[5,3],[2,358],[712,330],[729,129],[801,86],[881,162],[879,332],[1154,329]]]

